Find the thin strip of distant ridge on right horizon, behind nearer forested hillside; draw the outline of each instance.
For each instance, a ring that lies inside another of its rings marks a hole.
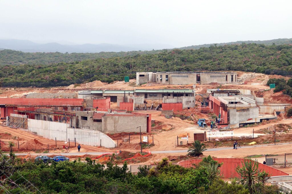
[[[204,45],[193,45],[188,47],[180,47],[178,49],[199,49],[201,47],[210,47],[211,45],[223,46],[223,45],[241,45],[242,43],[250,44],[264,44],[264,45],[283,45],[283,44],[292,44],[292,38],[279,38],[273,40],[246,40],[246,41],[236,41],[236,42],[224,42],[224,43],[213,43],[213,44],[204,44]]]

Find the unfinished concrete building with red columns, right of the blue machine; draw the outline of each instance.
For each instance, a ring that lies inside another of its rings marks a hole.
[[[215,115],[220,114],[220,124],[218,127],[237,128],[240,125],[248,123],[262,122],[277,118],[277,111],[283,110],[283,106],[290,104],[281,104],[272,106],[273,110],[266,112],[262,105],[263,99],[256,97],[250,90],[217,90],[207,89],[207,98],[209,108]]]

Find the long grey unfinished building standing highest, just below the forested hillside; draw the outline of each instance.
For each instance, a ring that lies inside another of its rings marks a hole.
[[[161,84],[210,84],[237,83],[236,72],[137,72],[136,83],[156,82]]]

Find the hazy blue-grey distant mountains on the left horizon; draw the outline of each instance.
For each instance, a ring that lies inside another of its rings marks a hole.
[[[11,49],[23,52],[60,52],[60,53],[99,53],[99,52],[127,52],[127,51],[148,51],[164,48],[172,48],[165,44],[133,44],[133,45],[115,45],[102,43],[98,45],[62,45],[56,42],[38,44],[29,40],[0,40],[0,48]]]

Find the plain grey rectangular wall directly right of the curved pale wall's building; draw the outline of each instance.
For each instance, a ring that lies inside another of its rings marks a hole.
[[[151,122],[151,120],[150,120]],[[141,126],[143,133],[147,132],[147,116],[132,114],[107,114],[102,117],[103,133],[140,132],[136,127]],[[151,126],[151,124],[150,124]]]

